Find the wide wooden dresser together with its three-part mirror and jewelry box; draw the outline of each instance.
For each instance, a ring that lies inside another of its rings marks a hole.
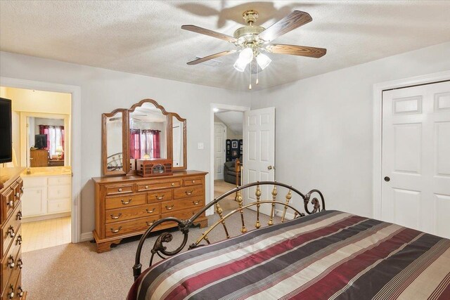
[[[207,172],[186,170],[186,160],[186,119],[155,100],[102,115],[103,176],[92,178],[98,253],[141,235],[159,219],[189,219],[205,207]],[[205,214],[196,220],[207,226]]]

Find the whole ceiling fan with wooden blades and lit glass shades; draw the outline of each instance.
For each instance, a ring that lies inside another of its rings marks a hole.
[[[264,70],[271,63],[269,56],[266,56],[264,53],[290,54],[294,56],[307,56],[310,58],[321,58],[326,54],[325,48],[270,44],[270,42],[277,37],[280,37],[291,30],[295,30],[297,27],[311,22],[312,18],[309,13],[305,13],[304,11],[293,11],[267,29],[262,26],[253,25],[257,18],[257,11],[245,11],[243,13],[243,19],[248,25],[238,28],[238,30],[234,32],[233,37],[195,25],[181,26],[181,29],[209,35],[210,37],[215,37],[217,39],[223,39],[224,41],[229,41],[238,47],[237,50],[222,51],[210,56],[192,60],[188,63],[188,65],[197,65],[198,63],[203,63],[207,60],[212,60],[213,58],[219,58],[221,56],[227,56],[229,54],[239,52],[239,58],[236,60],[236,63],[234,63],[233,67],[239,72],[244,72],[247,65],[250,64],[249,89],[252,89],[251,71],[253,60],[256,60],[257,72],[259,68]],[[258,84],[258,78],[256,79],[256,84]]]

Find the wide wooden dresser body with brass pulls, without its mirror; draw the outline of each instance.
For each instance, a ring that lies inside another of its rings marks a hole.
[[[124,237],[144,233],[153,222],[174,216],[189,219],[205,207],[205,175],[202,171],[176,171],[170,176],[143,178],[114,176],[92,178],[95,183],[97,252],[110,250]],[[207,226],[205,214],[198,218]],[[164,223],[161,230],[176,226]]]

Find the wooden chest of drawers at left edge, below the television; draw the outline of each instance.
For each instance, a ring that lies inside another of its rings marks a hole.
[[[1,220],[1,299],[25,299],[22,289],[22,219],[23,168],[0,168],[0,220]]]

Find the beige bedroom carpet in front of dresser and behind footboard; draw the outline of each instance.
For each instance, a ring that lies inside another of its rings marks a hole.
[[[255,212],[245,209],[248,230],[255,227]],[[217,216],[210,216],[210,224]],[[268,216],[261,215],[265,226]],[[276,218],[279,222],[279,218]],[[240,233],[240,216],[233,215],[226,221],[232,236]],[[191,229],[188,244],[195,242],[203,229]],[[181,242],[182,235],[174,233],[173,248]],[[209,235],[210,241],[224,240],[221,225]],[[143,247],[141,263],[148,265],[150,249],[156,237],[150,237]],[[96,253],[96,244],[82,242],[40,249],[23,254],[22,282],[28,291],[27,299],[125,299],[133,283],[131,267],[138,239],[122,242],[110,252]],[[168,247],[169,249],[171,247]]]

